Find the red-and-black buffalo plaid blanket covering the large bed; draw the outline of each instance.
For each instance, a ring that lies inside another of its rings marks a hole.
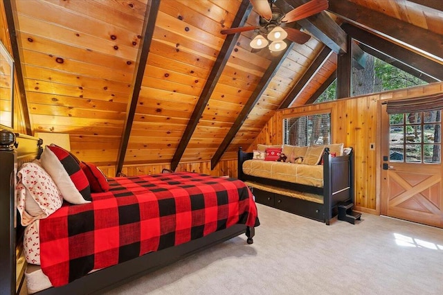
[[[234,224],[260,224],[238,179],[179,172],[116,177],[109,185],[91,203],[64,204],[40,220],[41,266],[53,286]]]

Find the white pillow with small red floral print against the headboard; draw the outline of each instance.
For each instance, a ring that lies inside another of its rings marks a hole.
[[[24,163],[17,175],[17,209],[23,226],[48,217],[62,206],[60,190],[37,163]]]

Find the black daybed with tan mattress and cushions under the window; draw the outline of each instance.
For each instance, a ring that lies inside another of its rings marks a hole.
[[[345,149],[345,155],[343,146],[336,150],[337,145],[304,147],[304,150],[276,145],[264,146],[261,150],[266,149],[269,155],[269,150],[285,152],[286,149],[289,154],[291,147],[300,158],[291,154],[290,161],[284,162],[278,161],[278,157],[264,161],[264,156],[257,153],[260,151],[243,152],[240,147],[238,178],[251,187],[256,202],[329,225],[338,213],[338,205],[347,209],[352,208],[354,202],[352,148]]]

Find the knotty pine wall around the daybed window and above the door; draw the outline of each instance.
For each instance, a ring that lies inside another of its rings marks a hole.
[[[266,123],[262,132],[248,148],[251,152],[257,143],[282,143],[282,119],[289,116],[315,114],[330,110],[332,114],[332,142],[345,143],[354,148],[355,154],[355,204],[356,210],[367,213],[380,213],[379,173],[381,154],[379,152],[379,114],[383,100],[413,98],[424,94],[441,93],[443,83],[428,84],[424,87],[413,87],[398,91],[387,91],[346,98],[334,102],[323,102],[316,105],[293,107],[275,112]],[[370,143],[375,143],[375,150],[370,150]]]

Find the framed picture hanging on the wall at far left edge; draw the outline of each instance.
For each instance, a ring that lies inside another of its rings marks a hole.
[[[0,127],[14,127],[14,60],[0,42]]]

